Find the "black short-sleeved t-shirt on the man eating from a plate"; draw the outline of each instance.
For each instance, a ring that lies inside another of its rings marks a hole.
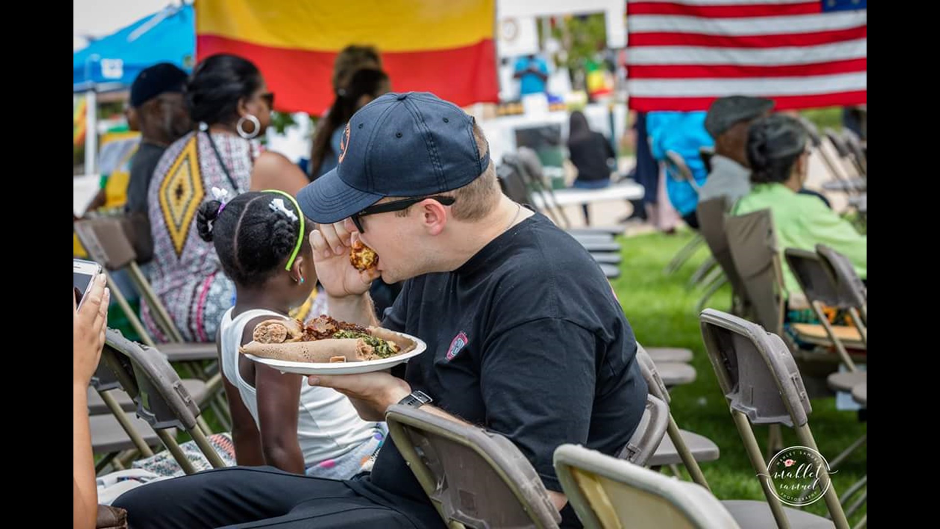
[[[610,284],[587,251],[540,214],[458,270],[406,281],[383,325],[428,344],[407,363],[412,389],[509,438],[547,489],[561,491],[552,466],[559,444],[617,455],[642,416],[647,385]],[[442,526],[391,439],[371,476],[348,483],[421,526]],[[571,505],[562,517],[564,526],[580,526]]]

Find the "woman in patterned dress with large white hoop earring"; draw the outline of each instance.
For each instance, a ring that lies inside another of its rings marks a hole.
[[[229,198],[260,189],[296,195],[307,180],[285,156],[260,149],[274,94],[250,61],[207,57],[187,83],[186,103],[198,130],[170,145],[150,181],[150,282],[183,340],[213,342],[235,287],[212,245],[196,233],[199,204],[211,198],[213,188]],[[150,332],[165,340],[146,304],[141,312]]]

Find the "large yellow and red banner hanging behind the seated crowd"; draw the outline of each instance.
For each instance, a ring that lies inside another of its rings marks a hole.
[[[495,0],[197,0],[196,55],[254,62],[277,110],[320,115],[337,53],[373,45],[395,91],[465,106],[498,100]]]

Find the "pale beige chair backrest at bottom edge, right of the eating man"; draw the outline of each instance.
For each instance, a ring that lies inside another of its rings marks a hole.
[[[574,444],[555,451],[558,480],[587,529],[735,529],[707,489]]]

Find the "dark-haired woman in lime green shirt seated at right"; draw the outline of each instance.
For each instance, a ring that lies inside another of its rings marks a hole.
[[[858,276],[867,278],[868,238],[819,198],[798,193],[807,180],[808,154],[807,132],[798,120],[774,114],[755,121],[747,135],[751,192],[733,209],[734,215],[771,210],[789,293],[801,289],[783,259],[786,248],[815,251],[816,245],[826,245],[848,257]]]

